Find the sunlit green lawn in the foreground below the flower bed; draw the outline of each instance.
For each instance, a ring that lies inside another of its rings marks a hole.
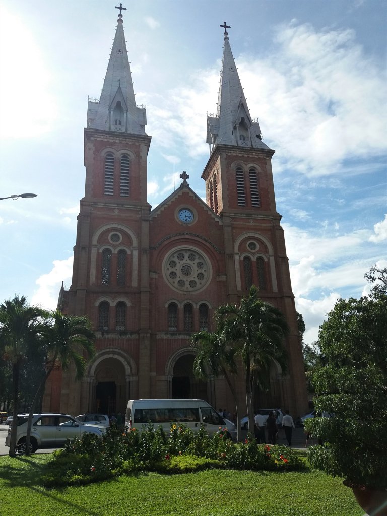
[[[51,454],[0,457],[2,516],[361,516],[350,489],[316,470],[211,470],[120,477],[47,490],[39,478]]]

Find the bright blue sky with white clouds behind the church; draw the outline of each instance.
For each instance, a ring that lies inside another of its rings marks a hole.
[[[0,0],[0,302],[55,309],[71,284],[88,96],[117,26],[112,0]],[[148,201],[189,183],[205,199],[206,115],[216,112],[224,21],[272,158],[296,309],[317,340],[335,301],[387,266],[386,0],[123,2]],[[173,170],[175,174],[173,174]]]

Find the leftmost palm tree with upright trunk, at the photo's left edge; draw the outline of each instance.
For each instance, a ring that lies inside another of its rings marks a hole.
[[[46,312],[37,306],[27,304],[26,297],[15,296],[0,305],[0,346],[3,358],[12,364],[13,425],[9,455],[15,456],[18,430],[19,375],[28,346],[34,345],[44,331]]]

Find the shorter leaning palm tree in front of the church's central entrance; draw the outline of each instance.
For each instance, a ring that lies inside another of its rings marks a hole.
[[[220,325],[221,326],[221,325]],[[192,335],[192,346],[197,349],[193,361],[193,374],[200,379],[217,378],[222,374],[227,381],[235,402],[236,420],[239,421],[237,396],[231,376],[237,373],[234,361],[235,349],[225,343],[220,327],[215,332],[205,330]],[[237,425],[239,442],[240,425]]]

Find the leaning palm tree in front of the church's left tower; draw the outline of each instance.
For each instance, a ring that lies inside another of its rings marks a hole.
[[[50,321],[51,326],[44,332],[50,360],[45,364],[45,376],[31,403],[25,442],[26,454],[33,449],[33,446],[30,446],[30,435],[35,403],[54,367],[68,370],[74,364],[75,379],[79,380],[85,374],[88,360],[95,354],[95,334],[87,317],[65,315],[57,310],[51,314]]]

